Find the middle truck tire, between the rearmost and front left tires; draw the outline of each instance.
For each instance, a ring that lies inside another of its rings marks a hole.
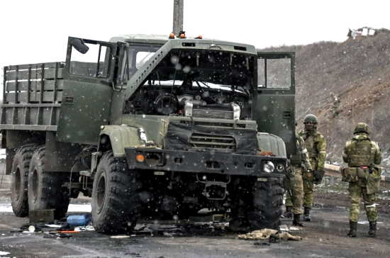
[[[63,218],[69,206],[69,192],[61,187],[69,177],[60,172],[44,172],[45,147],[38,147],[30,160],[28,172],[28,208],[55,209],[54,217]]]

